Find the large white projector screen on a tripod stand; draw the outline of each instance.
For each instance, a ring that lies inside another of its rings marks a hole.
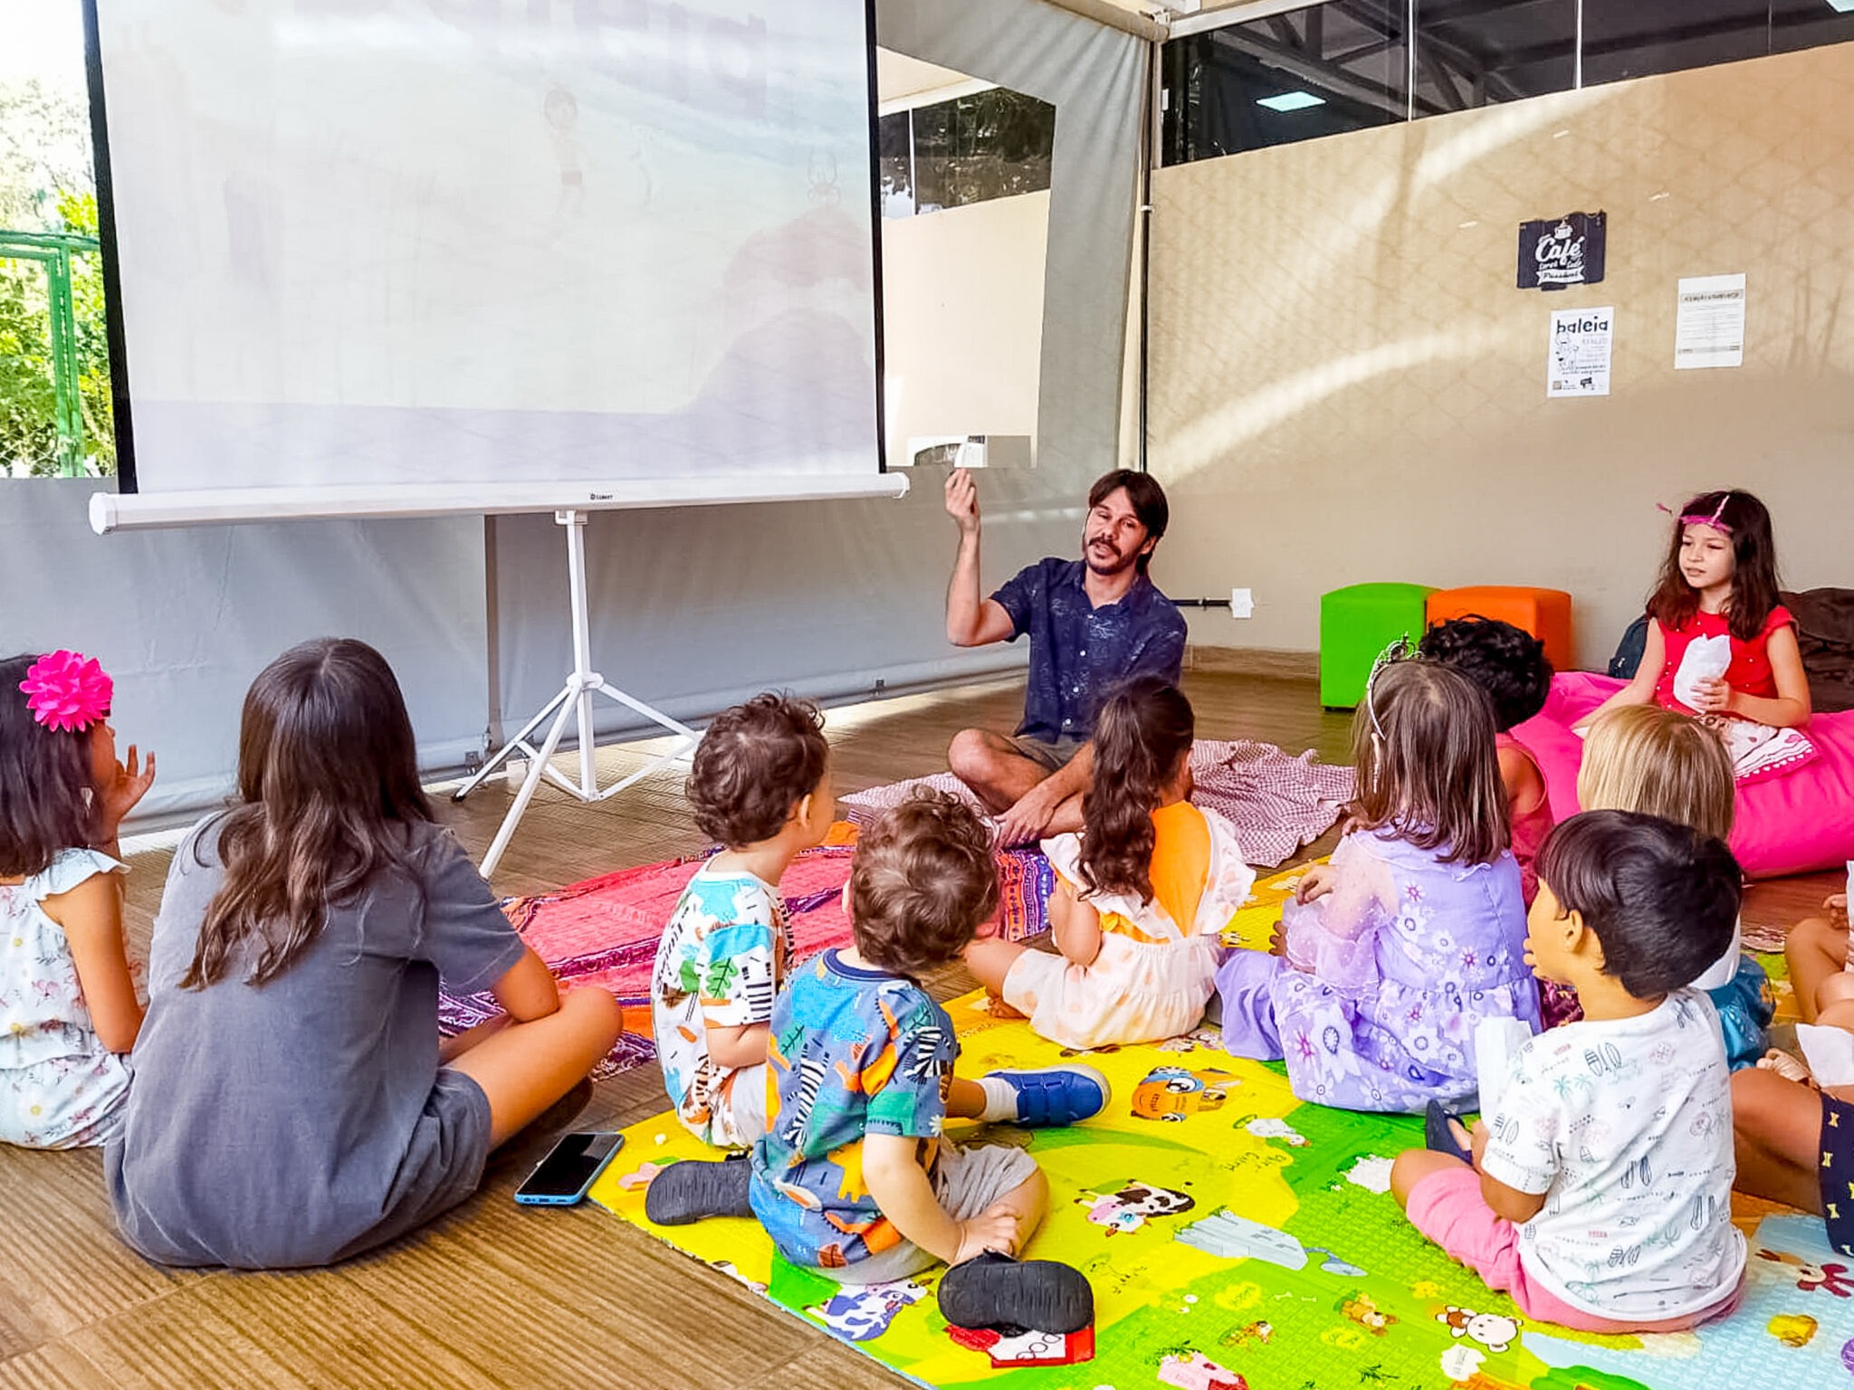
[[[897,491],[868,0],[93,22],[124,493],[248,519]]]

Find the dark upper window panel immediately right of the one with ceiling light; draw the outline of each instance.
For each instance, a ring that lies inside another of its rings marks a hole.
[[[1576,0],[1416,0],[1416,115],[1570,91]]]

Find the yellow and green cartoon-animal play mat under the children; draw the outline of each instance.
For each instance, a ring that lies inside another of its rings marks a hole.
[[[949,1006],[962,1075],[1062,1060],[979,1001]],[[1027,1142],[1042,1162],[1051,1208],[1027,1253],[1088,1273],[1086,1364],[994,1370],[986,1353],[953,1344],[933,1297],[938,1270],[842,1294],[779,1258],[753,1221],[653,1227],[647,1164],[714,1156],[667,1112],[627,1131],[591,1195],[814,1327],[825,1329],[831,1305],[832,1334],[933,1386],[1009,1375],[1023,1390],[1854,1390],[1854,1283],[1813,1218],[1761,1221],[1732,1318],[1656,1338],[1567,1333],[1520,1316],[1403,1221],[1385,1179],[1389,1160],[1422,1142],[1418,1121],[1300,1105],[1277,1066],[1231,1058],[1211,1038],[1088,1062],[1112,1080],[1114,1103],[1086,1125],[949,1131],[959,1142]]]

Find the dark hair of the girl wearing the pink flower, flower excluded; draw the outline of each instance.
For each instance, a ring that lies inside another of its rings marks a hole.
[[[44,873],[67,849],[98,840],[91,734],[46,728],[19,684],[39,658],[0,662],[0,873]]]

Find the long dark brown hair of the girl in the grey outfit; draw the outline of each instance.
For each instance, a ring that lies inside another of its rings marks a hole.
[[[386,658],[352,638],[291,647],[245,695],[237,797],[219,819],[226,878],[182,988],[224,979],[245,945],[256,951],[250,982],[274,980],[315,941],[328,908],[378,869],[417,880],[406,830],[432,819]]]

